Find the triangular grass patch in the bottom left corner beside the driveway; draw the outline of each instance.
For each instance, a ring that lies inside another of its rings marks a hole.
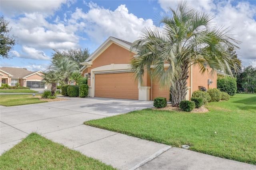
[[[99,160],[82,155],[39,134],[31,133],[0,156],[1,170],[75,169],[114,170]]]

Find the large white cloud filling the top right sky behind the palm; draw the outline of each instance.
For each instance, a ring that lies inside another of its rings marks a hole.
[[[246,1],[213,1],[213,0],[188,0],[188,6],[196,10],[210,13],[214,16],[214,21],[218,26],[233,28],[230,34],[234,35],[236,40],[242,42],[240,50],[236,51],[238,57],[243,61],[243,65],[251,65],[256,59],[256,6]],[[168,7],[176,9],[178,1],[159,0],[161,8],[168,10]]]

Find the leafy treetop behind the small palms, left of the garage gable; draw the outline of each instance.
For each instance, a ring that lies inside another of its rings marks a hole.
[[[52,54],[52,63],[56,63],[58,59],[62,57],[68,57],[72,61],[75,61],[78,64],[78,67],[81,68],[81,62],[84,62],[89,56],[88,48],[85,49],[69,49],[68,51],[60,51],[57,49],[53,49],[55,53]]]

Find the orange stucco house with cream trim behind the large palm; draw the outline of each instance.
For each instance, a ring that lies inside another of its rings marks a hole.
[[[80,69],[82,76],[88,77],[89,96],[144,101],[166,97],[168,100],[169,89],[152,81],[148,73],[143,76],[143,84],[134,79],[134,71],[130,69],[129,63],[136,53],[130,52],[131,44],[109,37],[90,57],[80,63],[83,65]],[[217,75],[202,75],[198,67],[192,66],[187,86],[186,99],[189,100],[192,92],[200,87],[216,88]]]

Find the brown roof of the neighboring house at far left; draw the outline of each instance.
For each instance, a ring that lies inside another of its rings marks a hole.
[[[13,79],[20,79],[20,78],[26,78],[30,75],[42,72],[42,71],[28,71],[26,69],[22,68],[14,68],[14,67],[0,67],[0,70],[13,75]]]

